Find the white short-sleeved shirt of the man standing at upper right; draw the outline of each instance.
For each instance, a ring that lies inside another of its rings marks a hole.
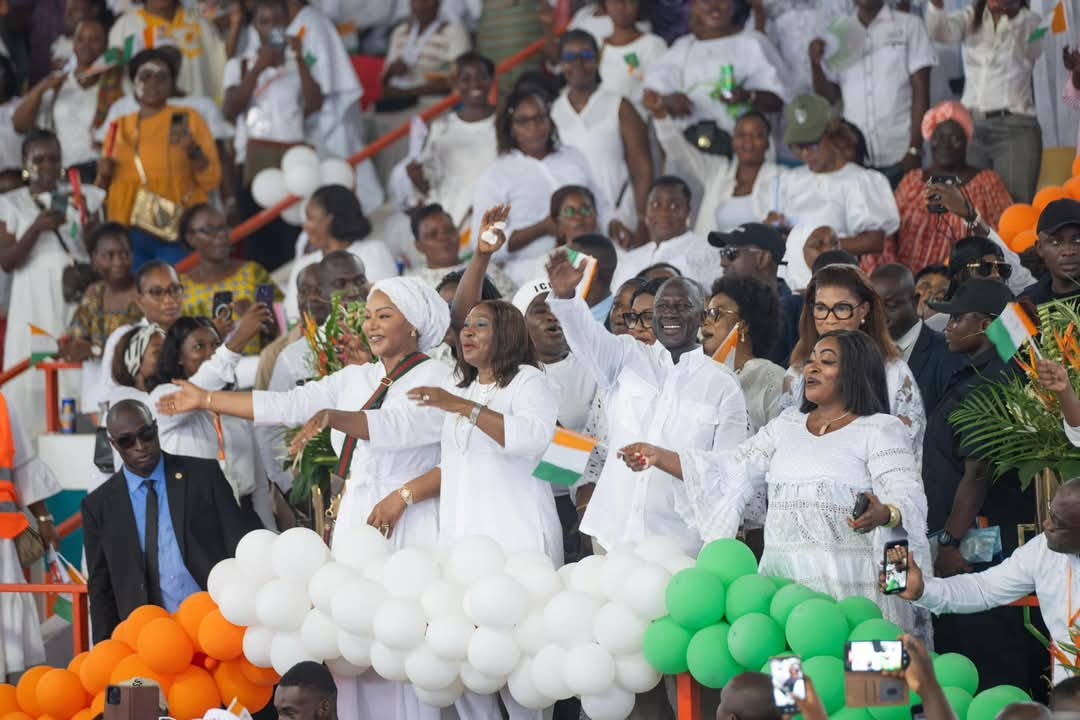
[[[843,94],[843,117],[866,137],[872,165],[904,159],[912,141],[912,76],[934,65],[922,19],[886,5],[866,26],[862,55],[829,78]]]

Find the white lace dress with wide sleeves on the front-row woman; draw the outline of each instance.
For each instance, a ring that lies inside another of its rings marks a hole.
[[[929,615],[917,617],[909,602],[878,592],[886,540],[906,536],[919,567],[933,567],[922,476],[896,418],[862,417],[819,437],[807,430],[806,416],[789,408],[732,450],[689,450],[679,460],[686,501],[675,510],[706,543],[733,538],[747,504],[765,489],[761,574],[791,578],[838,599],[867,597],[886,619],[929,639]],[[900,508],[902,527],[851,530],[848,518],[860,492]]]

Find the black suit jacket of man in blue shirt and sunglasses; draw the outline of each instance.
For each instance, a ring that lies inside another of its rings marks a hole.
[[[211,568],[232,557],[237,543],[254,528],[241,514],[217,461],[161,454],[176,543],[191,578],[205,589]],[[146,565],[123,471],[83,499],[82,531],[90,569],[90,616],[97,642],[149,601]]]

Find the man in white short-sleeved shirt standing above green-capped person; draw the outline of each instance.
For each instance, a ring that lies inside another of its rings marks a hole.
[[[883,0],[855,0],[865,32],[862,53],[826,68],[825,42],[810,43],[814,92],[837,103],[866,138],[870,165],[895,189],[904,173],[922,164],[922,116],[930,108],[930,68],[937,56],[922,19],[887,8]]]

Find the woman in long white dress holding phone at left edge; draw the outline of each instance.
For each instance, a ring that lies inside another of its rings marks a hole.
[[[0,195],[0,268],[12,273],[8,335],[3,365],[12,367],[30,354],[32,324],[59,337],[75,305],[64,299],[60,277],[75,261],[87,262],[84,231],[97,223],[105,191],[82,186],[83,208],[60,184],[64,164],[60,144],[49,131],[35,131],[23,141],[23,172],[27,185]],[[67,198],[59,212],[59,196]],[[80,373],[60,373],[60,396],[79,394]],[[8,402],[30,436],[44,430],[44,373],[24,372],[4,385]]]

